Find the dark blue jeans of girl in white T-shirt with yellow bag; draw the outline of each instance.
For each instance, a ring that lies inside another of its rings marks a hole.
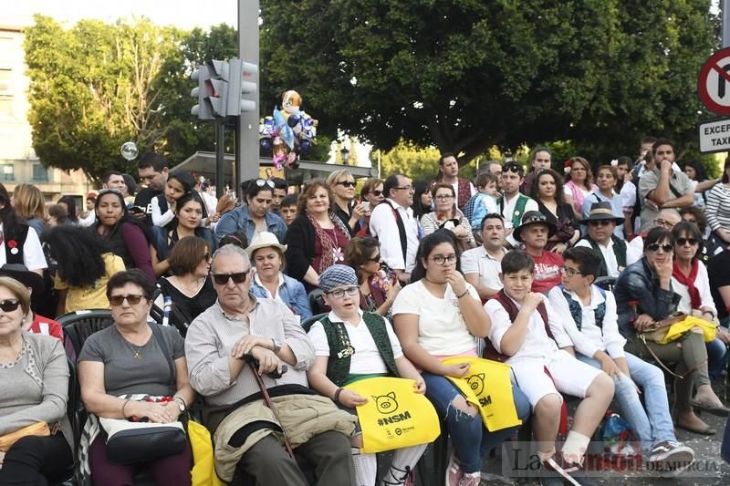
[[[432,401],[439,418],[446,421],[462,470],[464,472],[482,470],[482,456],[509,439],[519,427],[490,432],[482,425],[482,416],[479,413],[473,417],[452,405],[452,400],[462,393],[447,377],[433,375],[427,371],[422,373],[422,377],[426,382],[426,397]],[[512,394],[515,398],[517,416],[524,422],[530,415],[530,402],[514,385]],[[480,447],[476,448],[474,444],[480,444]]]

